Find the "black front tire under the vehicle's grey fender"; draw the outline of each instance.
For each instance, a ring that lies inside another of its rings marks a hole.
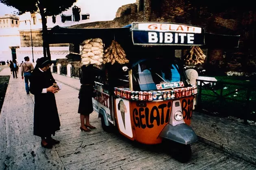
[[[171,156],[179,162],[185,163],[191,159],[191,146],[189,144],[180,144],[175,142],[172,145]]]

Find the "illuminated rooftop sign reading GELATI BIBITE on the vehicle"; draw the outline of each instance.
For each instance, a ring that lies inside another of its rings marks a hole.
[[[177,24],[148,22],[132,23],[134,45],[204,45],[205,30],[201,27]]]

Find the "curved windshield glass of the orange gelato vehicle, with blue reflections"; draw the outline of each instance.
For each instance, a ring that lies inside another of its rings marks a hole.
[[[172,60],[141,60],[132,67],[132,83],[135,91],[157,90],[157,84],[180,82],[178,64]]]

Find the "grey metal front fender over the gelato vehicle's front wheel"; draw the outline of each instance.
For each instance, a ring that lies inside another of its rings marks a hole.
[[[181,144],[191,144],[198,140],[195,131],[186,123],[175,126],[167,124],[159,136]]]

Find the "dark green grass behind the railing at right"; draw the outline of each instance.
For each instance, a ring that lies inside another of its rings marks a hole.
[[[256,80],[238,76],[216,76],[215,78],[217,79],[217,82],[222,81],[224,84],[223,96],[233,91],[234,93],[225,96],[225,100],[216,100],[216,97],[202,95],[202,108],[208,110],[209,112],[221,113],[222,116],[232,115],[242,119],[248,110],[250,113],[249,120],[256,120],[256,88],[254,87],[256,85]],[[240,85],[227,85],[225,83],[252,85],[254,89],[252,89],[251,95],[249,97],[249,105],[246,105],[247,88]],[[216,83],[213,88],[217,94],[220,94],[221,86],[219,83]],[[207,88],[207,86],[202,88],[202,94],[216,96],[213,91]]]

